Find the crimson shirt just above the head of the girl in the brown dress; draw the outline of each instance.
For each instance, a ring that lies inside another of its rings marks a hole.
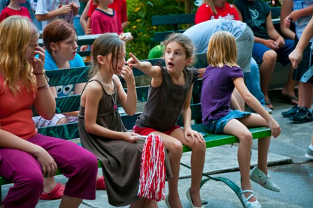
[[[103,10],[96,8],[94,13],[92,13],[92,18],[90,19],[90,27],[92,28],[92,34],[122,34],[123,32],[121,23],[119,22],[119,18],[117,17],[115,10],[113,10],[113,14],[110,15],[105,13]]]

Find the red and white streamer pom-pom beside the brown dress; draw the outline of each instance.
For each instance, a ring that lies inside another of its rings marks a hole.
[[[149,135],[145,140],[141,156],[139,197],[157,202],[165,199],[164,157],[163,142],[160,136]]]

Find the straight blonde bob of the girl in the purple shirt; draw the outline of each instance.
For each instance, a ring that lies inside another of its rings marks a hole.
[[[213,34],[208,45],[207,61],[214,67],[238,67],[235,37],[227,31]]]

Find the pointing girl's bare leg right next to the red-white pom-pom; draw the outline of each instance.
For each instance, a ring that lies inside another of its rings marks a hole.
[[[168,179],[168,201],[171,207],[182,207],[180,195],[178,194],[178,177],[180,175],[180,158],[182,158],[182,142],[179,140],[161,133],[159,131],[152,132],[162,138],[164,147],[168,150],[170,159],[170,169],[173,177]]]

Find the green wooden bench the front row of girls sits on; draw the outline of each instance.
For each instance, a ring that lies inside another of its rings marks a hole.
[[[149,59],[147,61],[150,61],[152,64],[155,64],[157,61],[160,61],[161,59]],[[196,68],[203,68],[207,66],[206,62],[206,54],[197,54],[196,55]],[[49,70],[46,72],[48,77],[50,78],[49,84],[50,86],[57,86],[62,84],[75,84],[75,83],[82,83],[87,82],[88,77],[88,70],[90,66],[86,67],[80,67],[80,68],[69,68],[69,69],[59,69],[59,70]],[[141,76],[145,75],[140,70],[134,68],[133,73],[135,76]],[[192,112],[192,118],[193,120],[201,119],[201,103],[199,103],[198,96],[201,93],[201,86],[202,86],[202,80],[199,79],[194,84],[193,89],[193,103],[191,103],[191,112]],[[137,96],[138,96],[138,103],[147,101],[147,92],[148,92],[148,86],[144,87],[136,87]],[[56,98],[57,108],[56,112],[71,112],[75,110],[79,110],[80,107],[80,95],[71,95],[71,96],[64,96],[60,98]],[[138,117],[140,112],[136,113],[133,116],[128,116],[126,114],[122,114],[122,121],[127,129],[133,128],[133,125],[135,124],[135,121]],[[36,112],[34,112],[34,115],[37,115]],[[180,119],[181,120],[181,119]],[[233,135],[214,135],[211,133],[208,133],[208,131],[205,129],[205,127],[202,124],[194,124],[192,125],[192,128],[196,131],[199,131],[203,133],[206,147],[217,147],[224,144],[232,144],[234,142],[238,142],[238,138],[235,138]],[[252,132],[253,138],[264,138],[270,135],[270,129],[269,128],[251,128],[250,131]],[[62,138],[64,140],[74,140],[76,138],[79,138],[78,133],[78,124],[72,123],[72,124],[63,124],[59,126],[51,126],[46,128],[38,128],[38,133],[49,135],[57,138]],[[183,147],[184,152],[191,151],[189,147]],[[182,164],[184,165],[184,164]],[[184,165],[187,168],[190,168],[188,165]],[[99,162],[99,168],[101,168],[101,163]],[[57,174],[61,174],[61,172],[58,170]],[[205,184],[206,181],[213,179],[215,181],[222,181],[225,184],[227,184],[229,187],[233,189],[233,191],[236,193],[236,195],[240,192],[240,187],[237,186],[233,181],[226,179],[224,177],[210,177],[208,174],[203,174],[207,179],[204,179],[201,182],[201,186]],[[3,177],[0,177],[0,186],[4,184],[10,184],[11,181],[8,179],[4,179]],[[1,192],[0,192],[1,195]],[[239,198],[239,196],[238,196]]]

